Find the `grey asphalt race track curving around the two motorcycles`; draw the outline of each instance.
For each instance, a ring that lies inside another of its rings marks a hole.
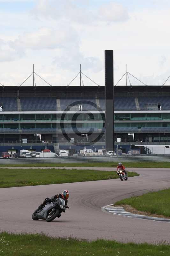
[[[113,170],[97,167],[88,169]],[[130,170],[136,170],[141,176],[131,177],[128,181],[115,179],[1,188],[0,231],[43,232],[49,236],[71,236],[89,240],[103,238],[121,242],[170,243],[170,223],[128,218],[101,211],[102,206],[117,200],[170,187],[170,169]],[[63,189],[70,191],[70,209],[50,223],[44,220],[33,221],[31,215],[43,199],[60,193]]]

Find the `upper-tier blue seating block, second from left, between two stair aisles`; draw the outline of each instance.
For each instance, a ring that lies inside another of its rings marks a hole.
[[[46,98],[46,97],[24,97],[20,98],[21,101],[21,110],[25,111],[33,111],[33,110],[43,110],[43,111],[55,111],[56,106],[56,98]]]

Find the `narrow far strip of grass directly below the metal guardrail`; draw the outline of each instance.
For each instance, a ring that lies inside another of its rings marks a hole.
[[[5,160],[4,160],[5,162]],[[0,167],[117,167],[118,162],[110,163],[55,163],[55,164],[0,164]],[[122,162],[128,168],[170,168],[170,162]]]

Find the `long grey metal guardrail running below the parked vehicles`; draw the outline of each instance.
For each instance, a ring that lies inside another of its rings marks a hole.
[[[0,159],[0,164],[47,164],[47,163],[102,163],[102,162],[170,162],[170,155],[135,155],[135,156],[77,156],[53,158],[11,158]]]

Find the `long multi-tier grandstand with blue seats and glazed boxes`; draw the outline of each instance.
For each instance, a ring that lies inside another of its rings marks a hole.
[[[105,148],[104,90],[104,86],[0,87],[0,151]],[[115,145],[124,152],[137,142],[170,141],[170,86],[115,86],[114,109]]]

